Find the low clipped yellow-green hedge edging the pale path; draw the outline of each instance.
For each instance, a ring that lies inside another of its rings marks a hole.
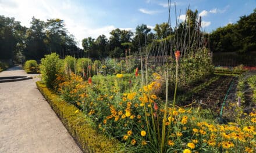
[[[110,140],[97,133],[90,124],[91,119],[78,111],[74,105],[63,101],[41,81],[36,84],[83,152],[123,152],[124,147],[118,140]]]

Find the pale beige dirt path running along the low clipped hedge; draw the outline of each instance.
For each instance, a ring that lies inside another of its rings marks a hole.
[[[20,67],[0,73],[27,75]],[[33,79],[0,83],[0,152],[81,152]]]

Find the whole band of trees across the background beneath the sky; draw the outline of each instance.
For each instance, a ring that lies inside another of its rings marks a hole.
[[[190,31],[186,35],[201,35],[205,39],[202,41],[205,43],[203,45],[208,46],[209,42],[212,52],[247,53],[256,50],[256,9],[250,15],[240,17],[237,23],[218,28],[211,34],[199,31],[200,21],[197,10],[195,12],[187,10],[186,20],[179,23],[177,27],[172,28],[168,23],[156,24],[154,32],[146,24],[137,25],[135,32],[116,28],[110,32],[109,38],[105,35],[99,35],[96,39],[84,38],[83,49],[80,49],[74,36],[69,34],[61,19],[42,21],[33,17],[30,27],[27,28],[20,25],[20,22],[15,21],[14,18],[0,16],[0,59],[19,62],[25,59],[40,60],[45,54],[52,52],[58,53],[61,58],[72,55],[104,59],[138,53],[140,49],[150,45],[156,48],[159,46],[159,49],[162,45],[166,52],[172,52],[169,45],[173,40],[178,42],[177,45],[173,43],[176,45],[175,49],[184,49],[182,47],[184,42],[191,43],[187,46],[197,45],[193,44],[197,41],[191,41],[190,37],[184,36],[184,31]],[[193,31],[195,32],[192,33]],[[210,41],[207,41],[208,38]],[[190,52],[189,47],[186,47],[185,52]]]

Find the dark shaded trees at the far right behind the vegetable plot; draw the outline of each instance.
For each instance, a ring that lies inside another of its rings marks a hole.
[[[210,48],[214,52],[256,51],[256,9],[241,16],[237,23],[217,28],[210,34]]]

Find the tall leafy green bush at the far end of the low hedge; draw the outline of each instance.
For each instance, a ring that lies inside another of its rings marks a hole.
[[[40,72],[42,81],[49,88],[54,88],[57,74],[63,72],[63,60],[59,59],[59,55],[56,53],[45,55],[45,58],[41,59]]]

